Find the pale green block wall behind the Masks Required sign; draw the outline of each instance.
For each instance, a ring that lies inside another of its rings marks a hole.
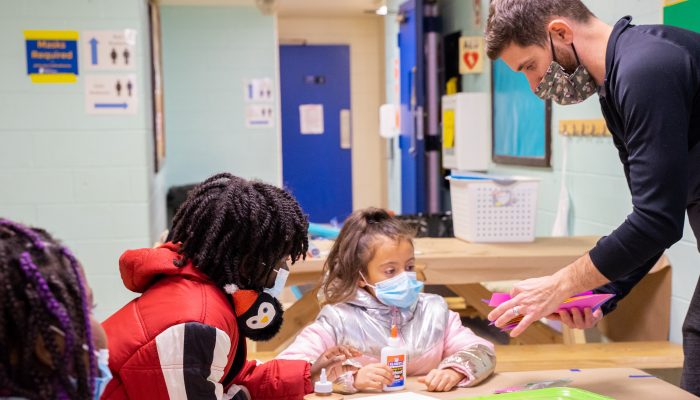
[[[165,226],[147,15],[139,0],[0,1],[0,216],[43,227],[74,250],[100,319],[134,297],[119,255],[149,246]],[[83,68],[73,84],[32,84],[26,75],[24,30],[127,28],[137,31],[136,115],[88,115]]]

